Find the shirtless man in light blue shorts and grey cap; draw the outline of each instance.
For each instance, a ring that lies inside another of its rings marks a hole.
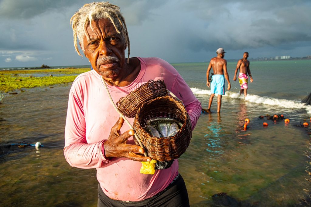
[[[225,51],[223,48],[218,48],[216,53],[217,57],[211,59],[206,72],[206,79],[207,79],[206,85],[208,87],[211,87],[211,97],[207,109],[208,112],[211,112],[211,105],[215,94],[218,94],[217,112],[220,112],[221,98],[222,95],[225,95],[225,79],[228,81],[228,90],[230,90],[231,88],[227,72],[227,61],[224,59]],[[211,68],[213,68],[214,74],[212,74],[210,80],[209,76]]]

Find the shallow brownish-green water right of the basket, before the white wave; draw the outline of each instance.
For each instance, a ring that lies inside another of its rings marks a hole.
[[[306,196],[303,189],[310,189],[305,180],[309,129],[295,126],[299,117],[291,117],[287,125],[259,119],[271,111],[258,112],[240,99],[223,98],[223,108],[220,114],[201,115],[191,144],[180,158],[192,206],[212,205],[211,196],[220,192],[244,205],[299,204]],[[244,131],[247,117],[250,124]],[[263,127],[263,122],[269,126]]]

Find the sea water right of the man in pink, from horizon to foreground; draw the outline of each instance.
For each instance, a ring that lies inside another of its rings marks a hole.
[[[207,108],[208,63],[173,66]],[[221,192],[243,205],[301,204],[310,189],[305,170],[311,133],[301,125],[310,122],[311,106],[301,100],[311,92],[311,61],[250,62],[253,83],[248,84],[246,98],[239,96],[238,80],[233,81],[235,68],[236,62],[228,62],[231,90],[222,97],[220,114],[215,95],[212,113],[201,115],[191,144],[180,158],[192,206],[217,204],[212,196]],[[267,120],[267,114],[283,114],[290,124]],[[246,131],[245,118],[251,120]]]

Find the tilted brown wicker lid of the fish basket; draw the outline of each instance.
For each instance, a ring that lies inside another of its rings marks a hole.
[[[150,80],[136,90],[133,90],[126,97],[122,97],[117,102],[117,107],[125,116],[133,118],[143,103],[160,96],[165,96],[166,94],[167,89],[163,81]]]

